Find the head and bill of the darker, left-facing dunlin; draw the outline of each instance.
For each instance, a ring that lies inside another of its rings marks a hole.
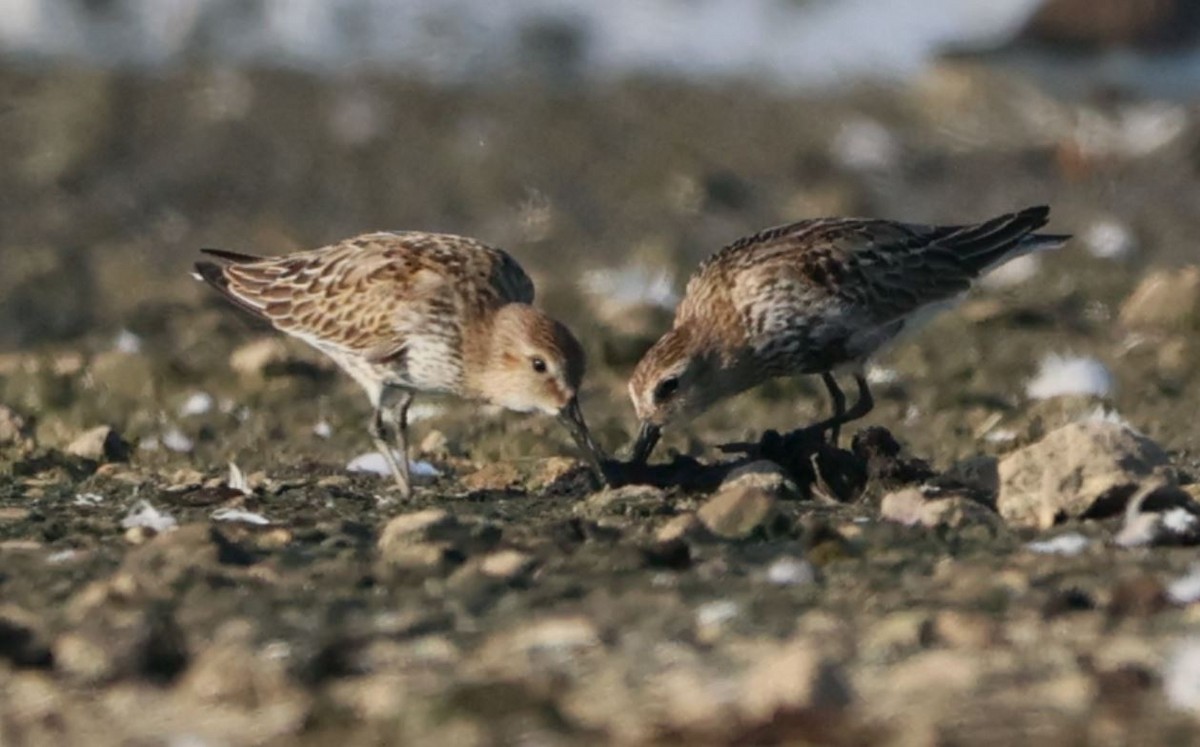
[[[724,396],[722,364],[701,330],[676,327],[647,351],[629,380],[640,430],[631,458],[644,462],[662,428],[690,420]]]

